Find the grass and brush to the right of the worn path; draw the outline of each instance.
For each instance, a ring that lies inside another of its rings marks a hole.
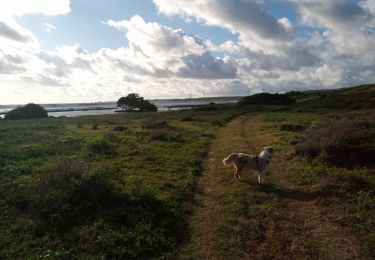
[[[372,115],[372,110],[262,115],[263,129],[276,137],[288,171],[295,173],[290,181],[320,197],[332,212],[337,206],[345,208],[337,215],[345,219],[345,225],[353,227],[361,242],[361,254],[367,257],[375,254],[375,175],[373,160],[361,156],[373,153]],[[303,125],[306,129],[283,131],[283,124]],[[333,130],[327,133],[327,127]],[[311,147],[316,153],[313,156]],[[300,149],[306,152],[301,153]],[[342,153],[344,149],[346,152]]]

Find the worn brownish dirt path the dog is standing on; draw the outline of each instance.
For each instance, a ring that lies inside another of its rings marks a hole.
[[[240,117],[217,133],[199,185],[191,242],[180,258],[358,259],[356,239],[339,218],[344,209],[293,184],[282,153],[275,154],[265,186],[249,170],[236,182],[233,169],[223,166],[230,152],[258,153],[272,144],[259,122]]]

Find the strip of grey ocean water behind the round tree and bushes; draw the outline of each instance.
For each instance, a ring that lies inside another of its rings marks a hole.
[[[194,106],[207,105],[211,102],[216,104],[233,104],[238,102],[240,97],[210,97],[193,99],[154,99],[149,100],[158,107],[158,111],[189,109]],[[20,105],[0,105],[0,118]],[[118,108],[116,102],[96,103],[65,103],[65,104],[41,104],[52,117],[78,117],[87,115],[108,115],[115,114]]]

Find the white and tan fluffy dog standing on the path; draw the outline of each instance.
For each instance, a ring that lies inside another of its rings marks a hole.
[[[241,173],[247,166],[252,170],[258,171],[258,182],[262,184],[265,183],[264,177],[271,162],[272,154],[273,148],[271,146],[266,146],[259,155],[231,153],[227,158],[224,158],[223,163],[227,167],[231,164],[234,165],[234,179],[236,181],[241,179]]]

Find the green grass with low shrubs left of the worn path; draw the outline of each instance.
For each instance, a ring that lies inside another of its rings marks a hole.
[[[0,258],[171,257],[211,132],[236,113],[0,121]]]

